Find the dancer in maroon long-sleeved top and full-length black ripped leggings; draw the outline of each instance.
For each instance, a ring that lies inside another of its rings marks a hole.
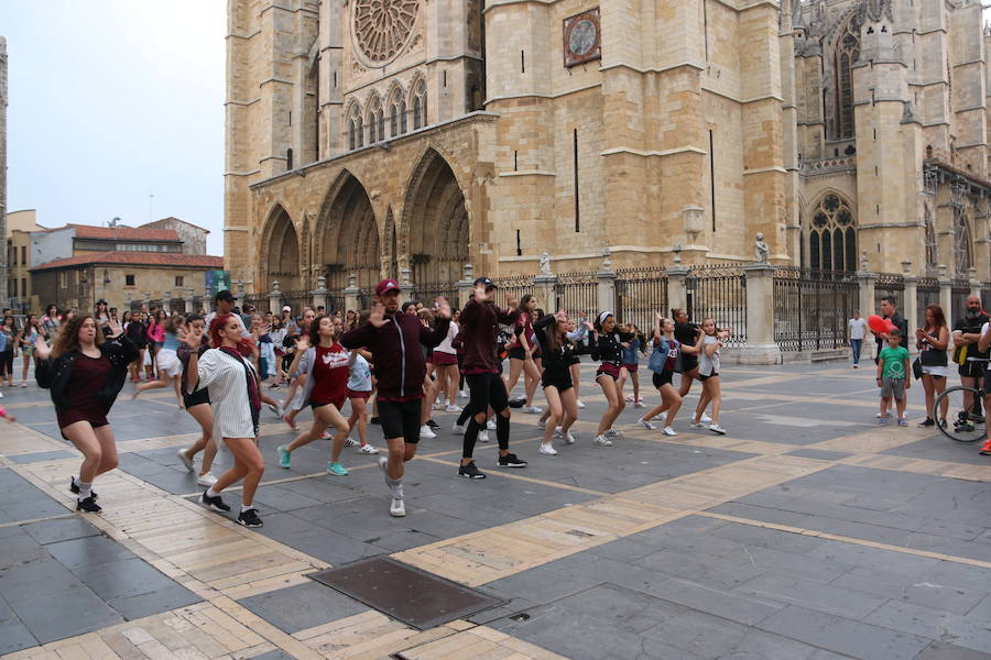
[[[496,338],[499,336],[499,323],[512,326],[520,316],[515,298],[511,294],[505,297],[510,309],[500,309],[492,299],[496,285],[488,277],[475,280],[471,300],[458,317],[459,337],[464,355],[461,373],[471,392],[468,409],[471,418],[465,429],[465,443],[461,452],[461,466],[458,476],[467,479],[484,479],[486,475],[475,465],[472,453],[478,441],[479,429],[484,428],[489,406],[496,413],[496,437],[499,440],[500,468],[526,468],[526,461],[518,459],[509,451],[509,395],[505,384],[499,376],[499,364],[496,358]]]

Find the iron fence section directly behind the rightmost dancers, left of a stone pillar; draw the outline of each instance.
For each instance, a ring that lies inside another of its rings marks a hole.
[[[726,345],[747,343],[747,282],[740,266],[693,266],[685,289],[693,322],[712,318],[718,328],[731,330]]]

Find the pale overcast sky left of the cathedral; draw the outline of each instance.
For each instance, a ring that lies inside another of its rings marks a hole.
[[[175,216],[224,250],[225,0],[0,0],[9,211]]]

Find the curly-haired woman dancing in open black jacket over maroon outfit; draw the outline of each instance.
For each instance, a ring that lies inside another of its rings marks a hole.
[[[34,343],[37,384],[51,391],[62,436],[83,452],[79,479],[69,490],[77,495],[76,510],[99,513],[92,481],[117,468],[117,444],[107,414],[128,377],[128,365],[138,349],[123,337],[113,319],[104,320],[107,331],[89,315],[63,323],[50,349],[40,336]]]

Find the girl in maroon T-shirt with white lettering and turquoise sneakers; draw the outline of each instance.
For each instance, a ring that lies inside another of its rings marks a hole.
[[[324,429],[336,430],[327,461],[327,472],[337,476],[346,476],[348,471],[340,464],[340,451],[348,437],[348,420],[340,414],[348,396],[348,377],[350,375],[350,355],[337,343],[341,333],[340,319],[327,316],[317,317],[309,324],[309,334],[304,334],[296,342],[296,358],[290,373],[295,373],[301,363],[301,371],[306,373],[306,385],[303,389],[303,405],[313,408],[313,426],[308,431],[300,433],[290,444],[279,448],[279,464],[283,468],[292,465],[292,452],[309,444],[323,436]]]

